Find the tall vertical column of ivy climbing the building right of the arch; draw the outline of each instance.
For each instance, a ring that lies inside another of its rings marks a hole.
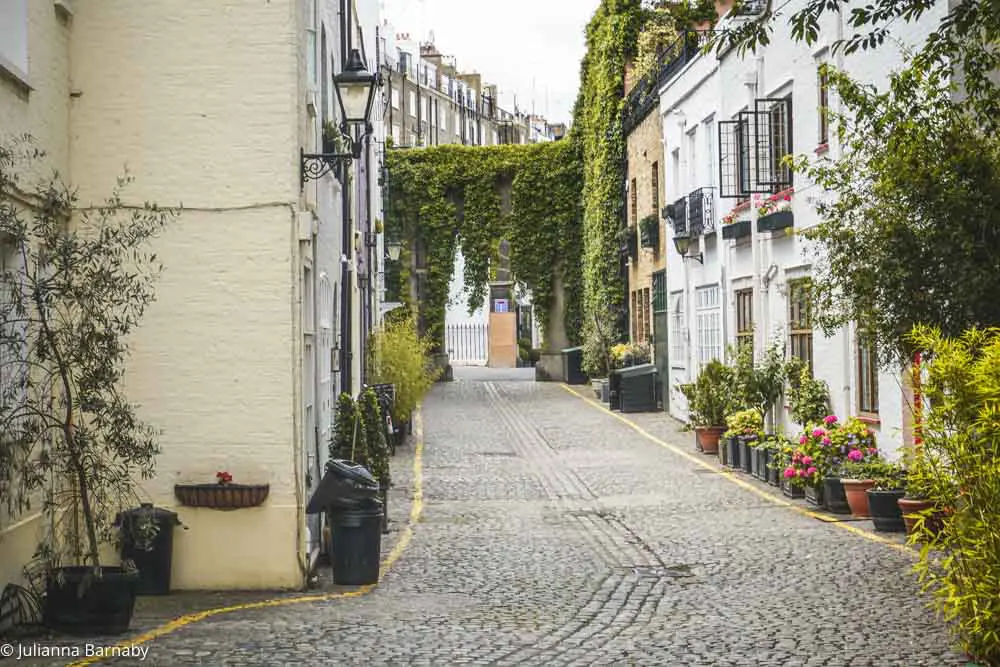
[[[622,129],[625,64],[644,18],[639,0],[602,0],[587,25],[587,52],[570,137],[581,144],[583,181],[583,332],[625,335],[625,286],[618,230],[625,223],[626,146]],[[599,374],[599,346],[587,345],[584,369]]]

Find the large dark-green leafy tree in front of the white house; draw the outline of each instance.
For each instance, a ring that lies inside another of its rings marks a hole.
[[[1000,138],[917,68],[879,93],[830,70],[850,117],[836,162],[799,159],[835,195],[806,230],[827,332],[859,322],[880,358],[908,358],[919,323],[957,336],[1000,322]]]

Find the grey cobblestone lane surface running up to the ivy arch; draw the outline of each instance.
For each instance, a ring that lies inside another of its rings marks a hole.
[[[424,512],[377,589],[213,617],[144,664],[964,663],[909,553],[519,381],[530,369],[491,377],[459,372],[428,398]],[[665,415],[627,417],[693,450]]]

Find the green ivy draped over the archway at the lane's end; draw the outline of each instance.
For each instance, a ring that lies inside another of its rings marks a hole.
[[[581,155],[576,143],[505,146],[435,146],[387,155],[389,215],[386,231],[403,238],[401,278],[412,277],[412,253],[426,252],[424,298],[417,305],[424,330],[440,349],[455,251],[465,259],[468,308],[486,298],[497,244],[507,239],[511,271],[532,292],[544,329],[557,276],[566,295],[564,324],[579,342],[582,319]]]

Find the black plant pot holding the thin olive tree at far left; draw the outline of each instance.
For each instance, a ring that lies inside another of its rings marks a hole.
[[[128,632],[139,572],[121,567],[60,567],[45,583],[45,625],[73,635]]]

